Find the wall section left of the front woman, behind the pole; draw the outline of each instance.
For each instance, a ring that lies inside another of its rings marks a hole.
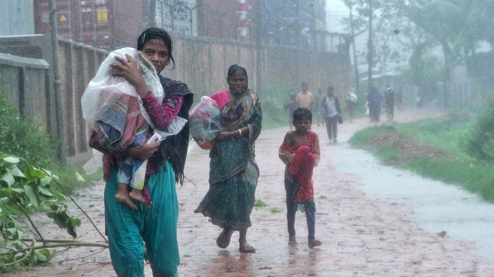
[[[0,37],[0,85],[21,115],[32,119],[39,128],[54,134],[57,128],[64,128],[67,160],[79,163],[91,153],[80,97],[108,52],[63,38],[58,42],[63,122],[55,118],[48,36]]]

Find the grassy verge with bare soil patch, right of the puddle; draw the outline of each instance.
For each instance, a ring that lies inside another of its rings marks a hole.
[[[374,153],[386,164],[480,195],[494,201],[493,165],[469,157],[459,146],[473,122],[465,117],[441,117],[396,124],[393,130],[370,127],[350,143]]]

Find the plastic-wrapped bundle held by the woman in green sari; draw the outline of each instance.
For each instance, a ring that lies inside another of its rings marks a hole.
[[[221,132],[221,113],[218,103],[202,96],[189,115],[190,135],[202,149],[210,149],[213,139]]]

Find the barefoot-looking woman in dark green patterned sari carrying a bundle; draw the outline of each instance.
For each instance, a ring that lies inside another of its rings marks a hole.
[[[229,90],[211,95],[221,108],[223,131],[210,152],[210,189],[195,212],[223,228],[216,240],[219,247],[226,248],[233,231],[239,231],[240,252],[254,253],[246,235],[259,178],[254,144],[261,132],[261,104],[248,87],[244,67],[231,66],[227,82]]]

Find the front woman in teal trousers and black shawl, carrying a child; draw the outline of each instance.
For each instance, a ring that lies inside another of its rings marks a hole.
[[[138,38],[137,50],[151,62],[158,74],[170,61],[174,63],[172,39],[161,28],[145,30]],[[119,63],[111,65],[114,68],[112,75],[125,78],[135,87],[156,129],[166,129],[177,117],[188,119],[193,95],[187,85],[158,76],[165,94],[158,102],[137,63],[130,56],[115,59]],[[112,265],[118,276],[144,276],[145,253],[154,276],[178,275],[180,256],[175,183],[183,182],[188,137],[189,128],[185,125],[178,134],[166,140],[129,147],[123,152],[109,149],[97,137],[91,137],[90,146],[104,153],[106,233]],[[115,197],[118,191],[116,163],[127,157],[148,160],[145,178],[151,207],[132,201],[121,203]]]

